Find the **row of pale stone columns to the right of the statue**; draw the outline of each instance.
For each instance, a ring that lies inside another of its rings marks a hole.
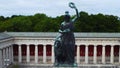
[[[119,56],[118,56],[118,63],[120,63],[120,46],[119,47]],[[94,51],[93,51],[93,63],[97,64],[97,45],[94,45]],[[88,64],[89,62],[89,55],[88,55],[88,46],[85,46],[85,64]],[[102,56],[101,56],[101,63],[105,64],[106,63],[106,50],[105,50],[105,45],[102,45]],[[77,46],[77,63],[80,63],[80,46]],[[114,46],[111,45],[110,49],[110,63],[114,64]]]

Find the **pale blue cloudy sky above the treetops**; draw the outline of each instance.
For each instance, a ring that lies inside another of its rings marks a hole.
[[[74,2],[79,11],[89,14],[103,13],[120,17],[120,0],[0,0],[0,16],[45,13],[56,17],[63,15],[66,10],[73,15],[75,12],[68,7],[69,2]]]

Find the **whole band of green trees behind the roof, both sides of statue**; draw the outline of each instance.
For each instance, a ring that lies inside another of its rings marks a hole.
[[[80,18],[75,22],[75,32],[120,32],[120,20],[117,16],[101,13],[89,15],[84,11],[79,14]],[[0,32],[58,32],[63,21],[64,16],[52,18],[39,13],[33,16],[0,16]]]

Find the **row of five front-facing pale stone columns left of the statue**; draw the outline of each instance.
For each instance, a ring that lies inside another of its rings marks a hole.
[[[22,62],[22,45],[18,45],[18,62],[21,63]],[[27,49],[26,49],[26,62],[29,63],[30,62],[30,45],[26,45]],[[43,63],[47,62],[47,53],[46,53],[46,46],[47,45],[43,45]],[[38,63],[39,60],[39,56],[38,56],[38,45],[35,45],[35,55],[34,55],[34,62]],[[52,55],[51,55],[51,62],[54,63],[54,46],[52,46]]]

